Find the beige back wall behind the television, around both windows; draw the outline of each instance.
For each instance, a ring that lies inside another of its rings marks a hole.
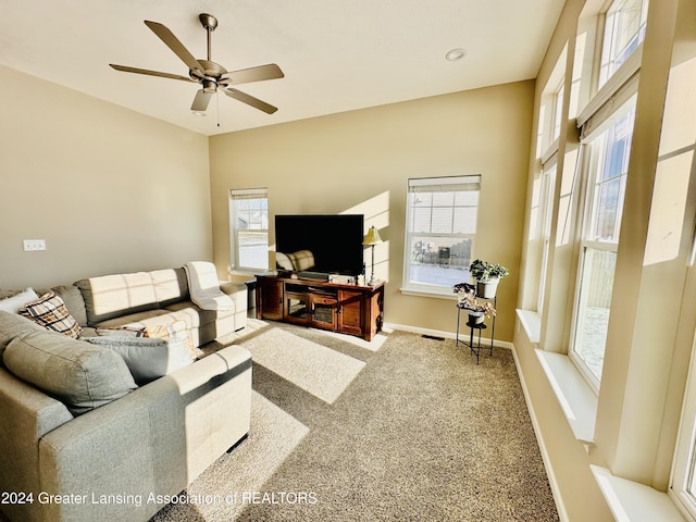
[[[220,275],[229,265],[228,190],[268,187],[271,221],[277,213],[364,213],[388,241],[375,254],[377,275],[388,279],[385,321],[451,333],[453,301],[399,291],[407,179],[482,174],[474,254],[510,269],[499,286],[496,338],[511,340],[533,92],[533,82],[521,82],[211,137]]]

